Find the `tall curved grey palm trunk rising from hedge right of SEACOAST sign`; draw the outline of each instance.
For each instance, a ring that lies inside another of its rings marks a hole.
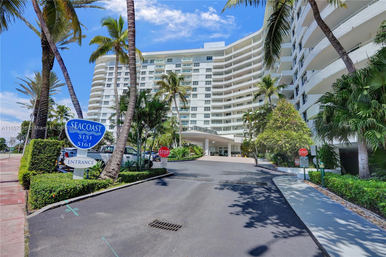
[[[125,120],[123,122],[122,130],[119,135],[117,144],[115,145],[114,151],[111,154],[110,159],[108,160],[105,169],[100,174],[100,178],[118,178],[118,173],[120,165],[122,162],[122,157],[126,147],[127,137],[129,135],[131,123],[133,120],[134,106],[135,106],[135,96],[137,92],[137,73],[135,66],[135,10],[134,10],[134,0],[127,0],[127,37],[128,37],[128,56],[129,56],[129,72],[130,72],[130,98],[129,105],[127,107]]]

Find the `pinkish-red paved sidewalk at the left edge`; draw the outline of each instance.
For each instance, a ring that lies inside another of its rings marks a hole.
[[[21,156],[0,159],[0,255],[24,256],[24,190],[17,179]]]

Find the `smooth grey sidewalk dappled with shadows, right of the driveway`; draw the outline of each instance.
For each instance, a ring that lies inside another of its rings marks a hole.
[[[386,231],[298,178],[273,182],[326,256],[386,257]]]

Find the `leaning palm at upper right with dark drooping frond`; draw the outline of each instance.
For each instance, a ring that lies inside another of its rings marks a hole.
[[[230,9],[238,5],[245,5],[245,7],[252,6],[264,6],[266,3],[272,8],[272,14],[268,18],[267,24],[267,33],[264,42],[264,62],[268,66],[273,66],[276,60],[280,57],[281,43],[283,39],[288,35],[291,28],[291,15],[293,14],[293,4],[294,0],[276,0],[276,1],[267,1],[267,0],[228,0],[225,4],[221,13],[225,9]],[[328,4],[335,5],[342,8],[347,8],[347,4],[344,0],[328,0]],[[323,33],[327,37],[328,41],[335,48],[339,56],[342,58],[347,70],[349,73],[355,71],[354,63],[351,58],[344,50],[338,39],[334,36],[331,29],[320,17],[320,12],[318,5],[315,0],[308,0],[310,3],[314,18],[322,29]]]

